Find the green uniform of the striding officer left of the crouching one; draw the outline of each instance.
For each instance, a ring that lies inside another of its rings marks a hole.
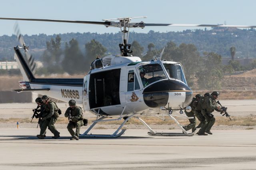
[[[44,104],[44,113],[42,114],[44,122],[42,123],[40,135],[44,135],[46,128],[50,129],[50,131],[54,134],[54,137],[58,137],[60,132],[56,130],[54,123],[59,117],[57,106],[54,102],[49,101],[48,104]]]

